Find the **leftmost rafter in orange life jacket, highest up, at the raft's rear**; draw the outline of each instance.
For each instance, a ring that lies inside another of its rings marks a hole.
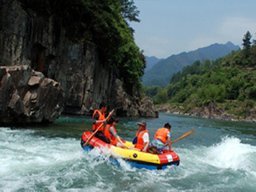
[[[105,123],[109,120],[105,118],[106,107],[106,103],[101,102],[99,105],[99,110],[94,110],[93,131],[97,130],[98,126],[101,126],[102,123]],[[103,127],[104,126],[99,128],[98,132],[95,134],[95,137],[101,139],[103,142],[110,143],[110,139],[103,134]]]

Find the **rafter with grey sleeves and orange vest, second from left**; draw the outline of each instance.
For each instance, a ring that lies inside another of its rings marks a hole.
[[[115,126],[118,125],[118,119],[117,118],[110,118],[110,121],[104,128],[104,135],[110,139],[110,144],[113,146],[118,147],[126,147],[123,143],[121,138],[118,136],[117,131],[115,130]]]

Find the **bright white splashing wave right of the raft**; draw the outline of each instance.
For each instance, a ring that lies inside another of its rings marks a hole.
[[[221,142],[212,146],[194,147],[194,149],[184,149],[186,153],[186,161],[193,163],[201,169],[205,170],[210,166],[231,170],[245,170],[250,174],[256,171],[256,146],[242,143],[239,138],[224,137]],[[182,154],[180,154],[182,156]]]

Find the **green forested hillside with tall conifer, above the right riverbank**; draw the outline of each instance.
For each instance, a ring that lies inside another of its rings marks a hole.
[[[256,44],[250,38],[247,32],[243,50],[214,61],[194,62],[174,74],[168,86],[146,88],[146,94],[155,104],[169,103],[185,113],[214,100],[227,113],[245,118],[256,106]]]

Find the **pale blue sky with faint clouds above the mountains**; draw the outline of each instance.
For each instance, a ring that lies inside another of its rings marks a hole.
[[[168,58],[214,43],[242,47],[256,39],[256,0],[134,0],[141,22],[130,22],[146,56]]]

